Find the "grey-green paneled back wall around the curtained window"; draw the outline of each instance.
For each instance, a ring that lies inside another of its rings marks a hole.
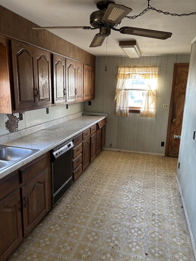
[[[170,104],[174,63],[189,62],[190,55],[156,55],[129,58],[127,56],[97,56],[95,100],[89,106],[84,103],[86,112],[107,113],[106,148],[122,149],[164,154],[166,144],[168,109],[163,103]],[[156,117],[139,117],[129,113],[129,117],[115,115],[114,102],[118,65],[153,65],[159,67],[159,80],[156,91]]]

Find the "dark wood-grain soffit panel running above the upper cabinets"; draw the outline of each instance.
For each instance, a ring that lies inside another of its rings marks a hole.
[[[0,6],[0,34],[65,55],[85,64],[95,66],[95,56],[47,30],[34,30],[39,25]]]

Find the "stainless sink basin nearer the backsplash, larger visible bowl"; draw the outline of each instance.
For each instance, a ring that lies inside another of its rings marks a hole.
[[[31,149],[24,149],[18,147],[3,147],[0,148],[0,159],[6,161],[15,161],[20,158],[28,156],[33,151]]]

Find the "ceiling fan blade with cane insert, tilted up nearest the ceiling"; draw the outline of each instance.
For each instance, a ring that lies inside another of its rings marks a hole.
[[[131,11],[131,8],[123,5],[109,4],[102,21],[112,25],[118,24]]]

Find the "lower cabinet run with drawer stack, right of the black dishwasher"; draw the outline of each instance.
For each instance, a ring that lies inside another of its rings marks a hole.
[[[89,166],[96,155],[105,147],[106,119],[86,129],[73,138],[72,177],[73,181]]]

